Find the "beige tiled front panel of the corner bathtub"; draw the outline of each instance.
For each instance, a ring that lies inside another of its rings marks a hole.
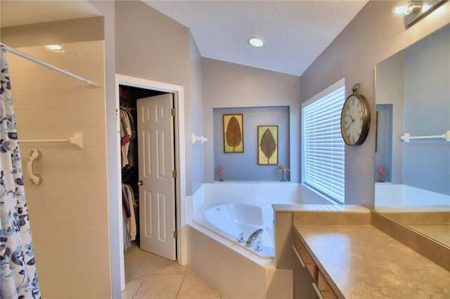
[[[188,265],[225,298],[293,298],[292,270],[248,256],[195,223],[188,225]],[[238,247],[237,245],[234,245]]]

